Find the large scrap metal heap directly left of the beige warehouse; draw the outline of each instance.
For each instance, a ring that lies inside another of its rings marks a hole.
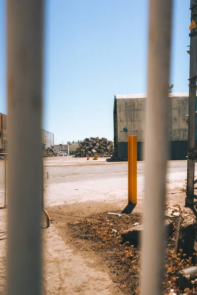
[[[114,143],[106,138],[86,138],[76,149],[75,157],[92,157],[95,152],[98,157],[110,157],[114,152]]]

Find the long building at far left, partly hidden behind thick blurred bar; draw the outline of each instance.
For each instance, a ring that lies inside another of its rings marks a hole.
[[[44,129],[42,132],[42,144],[44,148],[51,148],[54,145],[54,134]],[[7,148],[7,116],[0,113],[0,150]]]

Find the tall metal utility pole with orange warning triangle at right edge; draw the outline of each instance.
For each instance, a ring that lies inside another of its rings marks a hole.
[[[187,193],[186,206],[194,204],[194,173],[197,162],[195,148],[196,133],[196,92],[197,92],[197,2],[191,0],[190,25],[190,78],[189,78],[189,126],[188,126],[188,166],[187,166]]]

